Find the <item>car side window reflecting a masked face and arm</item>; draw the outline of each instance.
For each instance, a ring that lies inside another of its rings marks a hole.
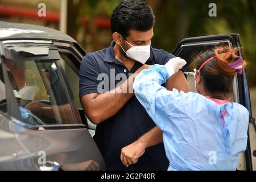
[[[23,121],[30,125],[74,124],[70,98],[53,60],[6,60]]]

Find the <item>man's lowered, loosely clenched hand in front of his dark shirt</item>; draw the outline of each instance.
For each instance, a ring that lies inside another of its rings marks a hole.
[[[140,140],[136,140],[129,146],[122,148],[120,159],[126,167],[129,167],[129,165],[138,162],[139,157],[144,154],[145,150],[146,146]]]

